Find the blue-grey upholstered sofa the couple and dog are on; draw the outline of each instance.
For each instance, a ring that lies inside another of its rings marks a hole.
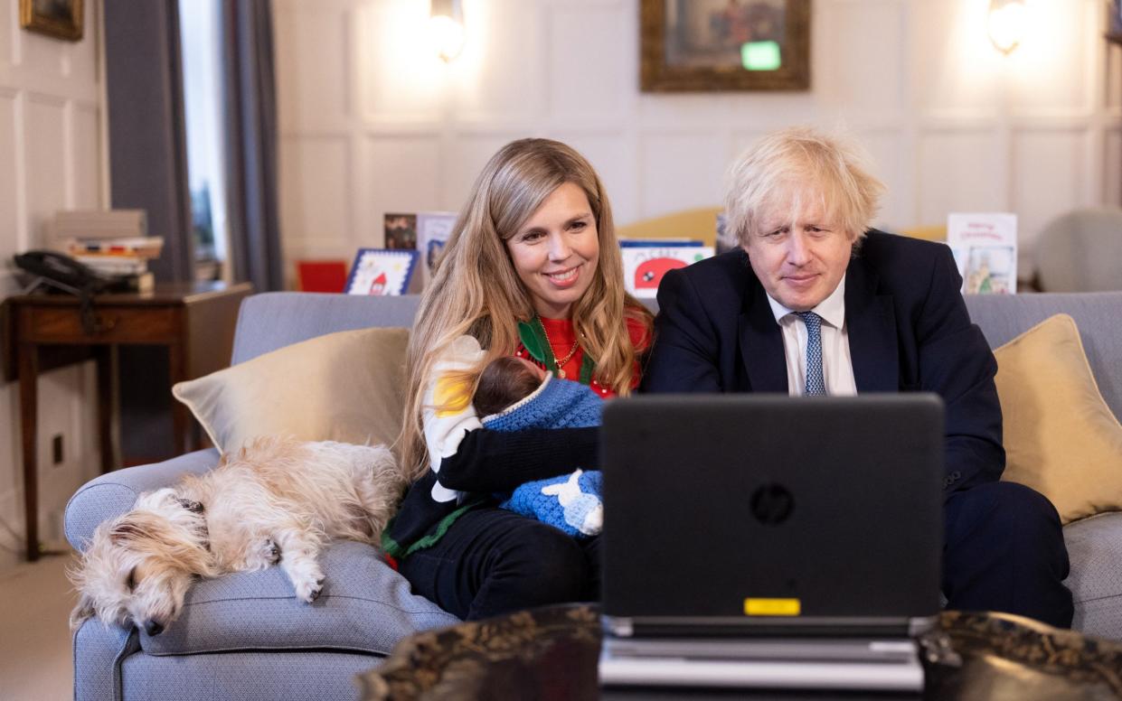
[[[1122,293],[969,297],[968,305],[994,347],[1051,314],[1070,314],[1107,404],[1122,415]],[[415,297],[256,295],[242,304],[232,360],[334,331],[408,326],[415,307]],[[66,508],[66,537],[82,550],[93,528],[128,510],[139,492],[217,461],[215,451],[199,451],[92,480]],[[1065,536],[1075,627],[1122,639],[1122,514],[1070,524]],[[339,543],[324,560],[328,584],[311,607],[274,568],[199,582],[180,620],[156,637],[86,621],[74,634],[75,698],[352,699],[353,675],[397,639],[457,621],[413,596],[368,546]]]

